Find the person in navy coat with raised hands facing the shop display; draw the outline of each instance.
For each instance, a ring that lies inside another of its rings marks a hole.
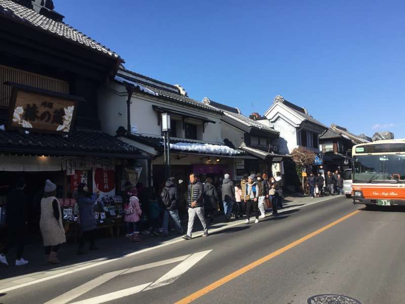
[[[80,183],[77,186],[77,204],[80,211],[80,236],[79,247],[77,254],[85,254],[84,248],[86,241],[90,242],[90,250],[98,250],[99,248],[95,244],[97,222],[94,218],[94,204],[100,195],[98,188],[96,187],[95,193],[89,193],[89,187],[85,183]]]

